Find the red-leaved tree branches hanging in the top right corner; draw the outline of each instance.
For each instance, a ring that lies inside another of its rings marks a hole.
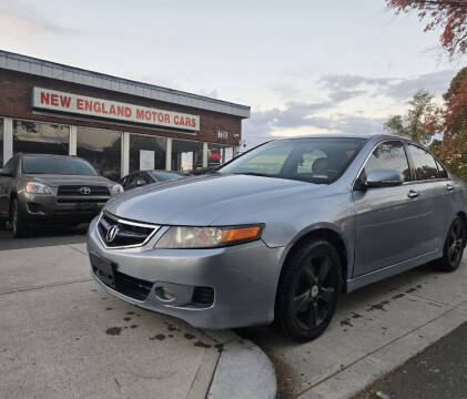
[[[386,0],[397,13],[417,11],[425,32],[443,29],[439,41],[453,58],[467,52],[467,0]]]

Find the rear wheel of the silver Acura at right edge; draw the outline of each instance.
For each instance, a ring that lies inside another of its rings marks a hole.
[[[436,266],[443,272],[455,272],[463,259],[466,246],[466,225],[460,216],[453,221],[443,248],[443,257],[436,260]]]

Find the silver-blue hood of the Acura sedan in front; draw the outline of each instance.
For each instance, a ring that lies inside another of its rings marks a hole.
[[[105,209],[122,218],[162,225],[255,223],[261,222],[254,219],[257,212],[274,208],[278,198],[319,186],[248,175],[194,176],[119,194]]]

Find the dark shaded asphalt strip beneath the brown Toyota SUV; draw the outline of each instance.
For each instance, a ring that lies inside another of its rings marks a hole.
[[[11,231],[0,231],[0,250],[85,243],[88,224],[78,227],[43,226],[31,229],[29,237],[13,238]]]

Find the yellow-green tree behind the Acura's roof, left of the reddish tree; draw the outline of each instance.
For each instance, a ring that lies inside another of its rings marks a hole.
[[[426,90],[419,90],[409,101],[410,109],[407,115],[394,115],[384,124],[386,132],[397,134],[420,143],[428,144],[434,134],[427,127],[429,115],[434,108],[432,105],[433,95]]]

